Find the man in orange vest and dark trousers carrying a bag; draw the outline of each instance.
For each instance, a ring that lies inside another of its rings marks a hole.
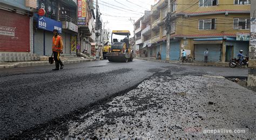
[[[53,71],[59,70],[59,65],[60,69],[63,69],[64,65],[62,61],[59,59],[60,53],[63,53],[63,41],[62,37],[59,36],[58,30],[53,30],[53,37],[52,37],[52,53],[53,53],[53,58],[55,61],[55,69],[52,69]]]

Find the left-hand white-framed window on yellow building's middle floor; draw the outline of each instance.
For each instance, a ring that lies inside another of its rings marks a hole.
[[[214,30],[216,29],[216,19],[201,19],[199,20],[199,30]]]

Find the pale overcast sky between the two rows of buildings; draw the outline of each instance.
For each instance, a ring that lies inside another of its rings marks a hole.
[[[96,4],[96,0],[94,1]],[[133,37],[133,20],[136,22],[150,11],[151,5],[158,0],[98,0],[103,28],[112,30],[129,30]]]

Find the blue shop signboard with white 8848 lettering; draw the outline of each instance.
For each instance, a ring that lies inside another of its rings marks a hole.
[[[57,29],[58,33],[62,33],[62,23],[47,17],[38,16],[37,27],[47,31],[53,31],[53,29]]]

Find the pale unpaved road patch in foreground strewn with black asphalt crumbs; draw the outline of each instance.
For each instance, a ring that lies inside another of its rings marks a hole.
[[[233,89],[235,84],[200,75],[157,73],[69,121],[68,130],[49,133],[58,138],[253,138],[255,93]],[[206,132],[217,129],[245,133]]]

